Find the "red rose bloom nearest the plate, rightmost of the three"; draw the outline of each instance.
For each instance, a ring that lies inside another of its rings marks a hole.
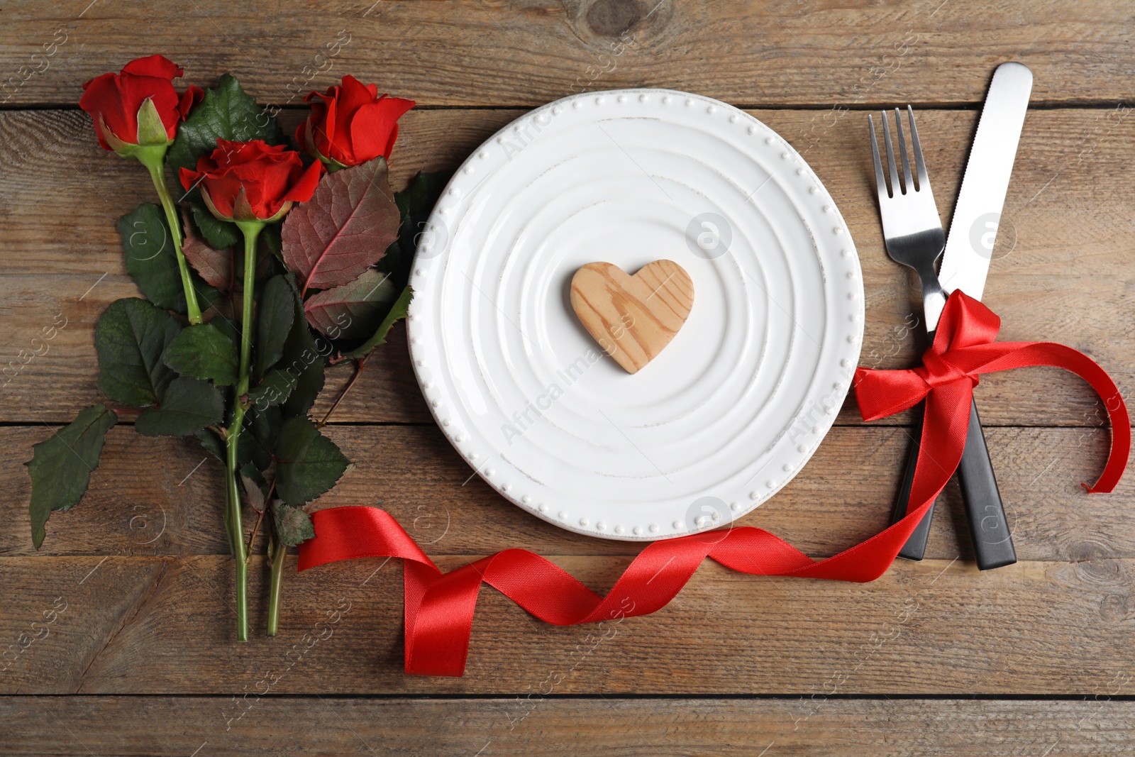
[[[316,98],[322,101],[312,102]],[[379,155],[389,160],[398,138],[398,119],[417,104],[379,96],[376,85],[363,86],[354,76],[344,76],[343,86],[333,86],[327,94],[312,92],[304,101],[311,102],[311,115],[296,128],[295,141],[334,168],[358,166]]]

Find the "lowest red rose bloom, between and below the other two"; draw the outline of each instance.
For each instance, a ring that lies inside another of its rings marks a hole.
[[[316,193],[318,160],[303,167],[300,153],[260,140],[217,140],[211,155],[201,155],[197,169],[183,168],[182,186],[200,184],[213,216],[222,220],[276,221],[293,202],[306,202]]]

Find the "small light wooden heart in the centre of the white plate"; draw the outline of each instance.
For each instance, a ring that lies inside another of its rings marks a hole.
[[[588,263],[571,279],[571,306],[608,355],[629,373],[670,344],[693,306],[693,281],[672,260],[634,276],[612,263]]]

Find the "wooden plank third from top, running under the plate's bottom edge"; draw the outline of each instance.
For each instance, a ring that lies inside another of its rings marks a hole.
[[[594,539],[524,513],[497,495],[436,427],[331,427],[356,463],[318,507],[363,504],[389,511],[431,555],[526,547],[554,555],[636,555],[636,542]],[[993,465],[1025,561],[1135,558],[1135,477],[1112,495],[1081,481],[1102,469],[1102,429],[987,429]],[[36,553],[30,480],[22,464],[47,428],[0,429],[0,555],[224,555],[220,464],[195,441],[115,429],[82,503],[54,513]],[[886,527],[908,443],[903,428],[836,428],[800,474],[740,525],[764,528],[807,554],[832,555]],[[160,465],[149,461],[160,460]],[[935,512],[927,556],[973,560],[956,486]],[[251,523],[247,524],[251,530]],[[263,542],[259,550],[263,549]]]

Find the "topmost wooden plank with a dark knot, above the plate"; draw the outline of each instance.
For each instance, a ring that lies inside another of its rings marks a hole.
[[[1036,73],[1037,100],[1117,101],[1135,76],[1132,20],[1128,5],[1105,0],[339,1],[263,14],[219,0],[171,12],[25,2],[5,11],[0,91],[20,106],[73,102],[83,82],[142,52],[145,28],[145,50],[174,58],[190,82],[232,72],[278,104],[346,73],[438,106],[532,106],[624,86],[746,104],[975,102],[993,67],[1014,59]]]

